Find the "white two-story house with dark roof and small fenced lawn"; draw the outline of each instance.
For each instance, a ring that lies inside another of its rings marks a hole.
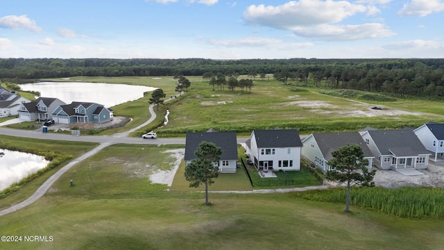
[[[302,142],[296,129],[255,130],[246,142],[246,153],[256,169],[299,171]]]

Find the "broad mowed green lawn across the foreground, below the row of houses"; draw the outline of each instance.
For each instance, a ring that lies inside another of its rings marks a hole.
[[[112,145],[75,165],[37,202],[0,217],[1,249],[442,249],[444,222],[401,219],[284,194],[167,191],[149,175],[181,145]],[[180,172],[178,172],[180,174]],[[223,177],[223,176],[221,176]],[[176,176],[178,178],[178,176]],[[215,185],[226,179],[216,178]],[[239,180],[241,178],[236,177]],[[70,186],[70,181],[74,186]],[[233,184],[230,184],[233,185]],[[242,185],[242,184],[237,184]]]

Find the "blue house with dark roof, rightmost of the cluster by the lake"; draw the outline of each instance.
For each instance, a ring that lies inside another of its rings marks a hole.
[[[54,122],[60,124],[110,122],[113,118],[112,110],[103,105],[79,101],[58,106],[51,115]]]

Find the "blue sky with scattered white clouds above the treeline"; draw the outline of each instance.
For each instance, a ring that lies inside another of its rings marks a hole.
[[[444,0],[3,0],[0,58],[444,58]]]

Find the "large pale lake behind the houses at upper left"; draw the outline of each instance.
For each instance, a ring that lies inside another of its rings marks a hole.
[[[20,84],[20,88],[24,91],[38,91],[40,97],[57,98],[65,103],[84,101],[99,103],[106,108],[135,101],[144,97],[144,92],[156,89],[140,85],[80,82],[25,83]]]

